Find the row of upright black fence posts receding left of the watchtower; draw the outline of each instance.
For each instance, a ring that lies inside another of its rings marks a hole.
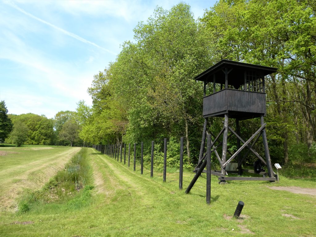
[[[143,174],[143,142],[141,142],[141,174]],[[93,145],[94,149],[117,159],[122,162],[122,146],[119,144]],[[128,144],[128,167],[130,167],[131,159],[131,143]],[[124,144],[124,164],[126,162],[126,143]],[[179,169],[179,189],[182,189],[183,184],[183,137],[180,138],[180,169]],[[136,143],[134,143],[134,166],[133,171],[136,170]],[[167,173],[167,138],[164,139],[164,156],[163,156],[163,182],[166,182]],[[150,177],[154,176],[154,141],[151,142],[151,159],[150,159]]]

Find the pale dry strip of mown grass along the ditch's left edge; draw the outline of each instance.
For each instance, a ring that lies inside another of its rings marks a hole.
[[[58,170],[81,148],[70,148],[60,153],[4,169],[0,174],[0,210],[13,211],[17,207],[16,198],[27,189],[38,189],[44,185]],[[17,173],[17,171],[19,171]]]

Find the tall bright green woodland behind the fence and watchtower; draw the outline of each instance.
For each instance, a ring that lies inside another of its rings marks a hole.
[[[279,68],[265,79],[272,161],[315,161],[315,10],[309,0],[220,0],[195,20],[185,3],[169,10],[157,7],[134,28],[134,41],[125,41],[116,60],[94,75],[88,88],[93,106],[79,101],[75,112],[59,112],[54,121],[39,116],[39,127],[50,124],[58,144],[153,140],[161,149],[167,137],[177,150],[177,141],[185,137],[185,161],[194,164],[204,119],[203,82],[193,78],[230,59]],[[65,139],[70,124],[77,131],[73,142]],[[241,135],[250,137],[258,124],[256,119],[241,121]],[[209,126],[216,133],[222,119],[210,118]],[[28,134],[29,142],[49,141],[30,128]],[[234,151],[236,142],[229,141],[228,149]],[[256,149],[263,151],[259,145]]]

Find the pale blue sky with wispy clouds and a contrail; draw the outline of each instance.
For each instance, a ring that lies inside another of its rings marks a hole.
[[[93,76],[156,6],[180,1],[0,1],[0,100],[9,113],[75,111]],[[195,18],[216,1],[184,1]]]

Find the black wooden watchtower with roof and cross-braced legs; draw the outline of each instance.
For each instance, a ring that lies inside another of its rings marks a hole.
[[[194,78],[197,81],[204,82],[204,129],[199,160],[194,170],[196,172],[195,176],[198,177],[202,172],[206,173],[204,168],[207,163],[207,152],[204,151],[204,148],[205,138],[208,136],[211,140],[209,141],[211,144],[210,153],[214,152],[221,166],[220,171],[212,170],[211,174],[218,176],[221,182],[225,182],[225,180],[276,180],[276,174],[273,172],[271,166],[265,131],[266,124],[264,123],[264,116],[266,115],[264,76],[276,72],[276,70],[277,68],[223,59]],[[213,87],[212,90],[210,89],[212,93],[208,96],[206,96],[207,85],[208,88]],[[217,136],[208,131],[207,122],[209,117],[225,118],[223,128]],[[244,141],[240,137],[239,121],[253,118],[261,119],[260,128],[252,137]],[[228,119],[235,119],[236,131],[228,126]],[[233,136],[237,138],[237,150],[234,154],[231,154],[227,150],[227,140]],[[222,137],[222,141],[219,140],[220,137]],[[257,143],[260,137],[262,137],[264,145],[265,159],[253,149],[254,144]],[[241,143],[243,144],[241,145]],[[221,155],[217,152],[219,147],[222,147]],[[240,151],[244,148],[248,150],[241,157]],[[250,152],[267,166],[267,173],[260,172],[259,174],[263,175],[263,177],[226,177],[227,172],[238,173],[239,175],[243,172],[254,173],[253,170],[242,169],[242,162]],[[233,160],[236,160],[238,164],[236,171],[226,171],[226,167]],[[197,177],[193,178],[186,193],[190,191]]]

